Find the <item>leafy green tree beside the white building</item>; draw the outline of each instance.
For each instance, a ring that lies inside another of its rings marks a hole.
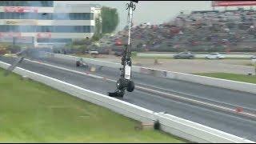
[[[119,23],[118,10],[106,6],[102,6],[102,33],[112,33]]]

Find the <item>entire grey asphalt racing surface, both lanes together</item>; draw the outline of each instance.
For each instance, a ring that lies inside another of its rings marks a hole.
[[[36,58],[38,62],[48,63],[54,66],[65,67],[70,70],[77,70],[88,73],[85,67],[76,67],[74,62],[64,61],[57,58]],[[10,63],[14,58],[0,57],[0,61]],[[44,66],[34,62],[24,61],[19,67],[31,70],[39,74],[44,74],[52,78],[57,78],[64,82],[69,82],[82,88],[93,90],[101,94],[114,91],[115,82],[104,79],[91,78],[85,74],[77,74],[66,70],[60,70],[52,66]],[[96,66],[98,67],[98,66]],[[119,70],[112,70],[103,67],[94,74],[110,79],[118,79]],[[153,90],[162,91],[168,94],[182,95],[185,98],[194,98],[200,101],[218,103],[224,102],[234,106],[242,106],[249,110],[256,110],[256,95],[239,92],[236,90],[226,90],[213,86],[204,86],[191,82],[182,82],[166,78],[156,78],[146,74],[132,73],[135,85],[144,86]],[[221,85],[221,84],[220,84]],[[143,90],[135,90],[132,93],[126,92],[122,100],[142,106],[156,112],[165,111],[179,118],[185,118],[192,122],[198,122],[205,126],[210,126],[217,130],[222,130],[242,138],[256,142],[256,119],[226,113],[222,110],[213,110],[205,106],[198,106],[189,102],[177,101],[175,99],[162,97],[158,94],[151,94]],[[224,105],[223,104],[223,105]]]

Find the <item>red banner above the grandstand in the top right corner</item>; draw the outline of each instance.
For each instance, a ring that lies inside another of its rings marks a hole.
[[[212,1],[212,6],[255,6],[256,1]]]

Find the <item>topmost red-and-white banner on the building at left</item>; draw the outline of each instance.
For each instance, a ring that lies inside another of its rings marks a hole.
[[[38,13],[38,9],[34,7],[19,7],[19,6],[6,6],[4,7],[5,12],[10,13]]]

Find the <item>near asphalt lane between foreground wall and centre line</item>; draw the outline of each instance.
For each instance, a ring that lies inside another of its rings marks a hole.
[[[11,63],[13,58],[0,58],[2,62]],[[64,82],[69,82],[76,86],[94,90],[101,94],[115,90],[115,82],[106,81],[105,78],[93,78],[85,74],[73,73],[71,71],[59,70],[51,66],[43,66],[34,62],[22,62],[20,67],[27,70],[44,74],[52,78],[57,78]],[[73,69],[74,70],[74,69]],[[103,68],[104,70],[104,68]],[[159,91],[159,90],[158,90]],[[237,117],[236,115],[226,114],[218,110],[210,110],[202,106],[191,105],[186,102],[174,101],[170,98],[159,97],[143,90],[135,89],[133,93],[126,93],[126,102],[134,103],[154,111],[166,111],[180,118],[185,118],[193,122],[198,122],[242,138],[255,141],[256,122],[248,118]]]

